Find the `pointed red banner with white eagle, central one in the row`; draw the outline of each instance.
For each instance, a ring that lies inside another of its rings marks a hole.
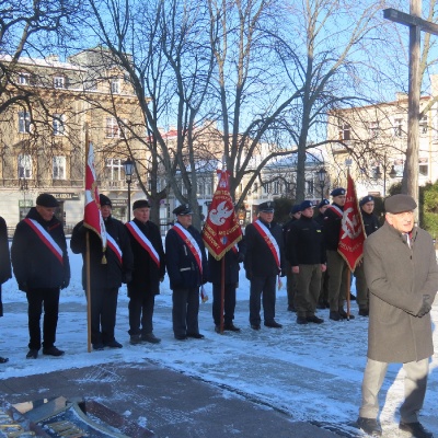
[[[210,254],[219,261],[242,239],[242,230],[230,195],[230,174],[218,171],[218,175],[219,183],[208,210],[203,240]]]

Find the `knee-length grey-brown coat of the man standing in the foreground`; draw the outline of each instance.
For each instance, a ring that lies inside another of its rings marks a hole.
[[[414,228],[411,247],[388,222],[365,242],[364,268],[370,291],[368,357],[408,362],[434,354],[430,312],[417,316],[423,297],[431,304],[438,266],[427,231]]]

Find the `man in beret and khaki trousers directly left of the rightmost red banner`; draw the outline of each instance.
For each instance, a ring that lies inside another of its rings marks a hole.
[[[348,266],[337,252],[337,245],[339,243],[346,191],[338,187],[332,191],[330,195],[333,198],[333,203],[324,212],[323,229],[327,252],[330,319],[341,321],[347,318],[347,312],[344,310],[344,300],[347,293]],[[349,315],[350,320],[354,318],[354,315]]]

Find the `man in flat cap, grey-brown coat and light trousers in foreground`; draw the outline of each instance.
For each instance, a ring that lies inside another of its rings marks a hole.
[[[358,426],[381,436],[378,395],[390,362],[403,364],[404,396],[400,429],[431,438],[418,422],[434,354],[430,309],[438,287],[431,237],[414,226],[415,200],[394,195],[384,203],[385,223],[365,242],[364,267],[369,287],[368,360]]]

